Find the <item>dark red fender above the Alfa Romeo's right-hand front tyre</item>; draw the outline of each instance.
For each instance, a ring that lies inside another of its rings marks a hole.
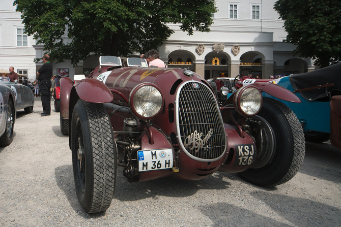
[[[264,91],[277,99],[292,102],[301,103],[301,100],[287,88],[281,87],[277,84],[266,83],[266,82],[255,82],[253,86],[257,87],[261,91]]]

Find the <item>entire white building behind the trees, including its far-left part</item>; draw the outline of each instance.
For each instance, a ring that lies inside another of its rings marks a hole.
[[[274,3],[218,0],[210,33],[194,31],[188,36],[179,25],[167,24],[175,32],[158,48],[160,59],[169,68],[189,68],[205,79],[235,77],[240,73],[258,73],[261,78],[268,78],[314,70],[310,58],[294,56],[295,47],[284,42],[287,33],[273,9]],[[34,58],[43,56],[43,45],[35,45],[31,37],[24,35],[13,0],[1,1],[0,13],[0,69],[13,66],[18,73],[23,69],[32,80],[42,66],[42,62],[34,63]],[[53,74],[71,79],[75,74],[89,75],[97,66],[98,57],[91,56],[77,67],[70,60],[53,63]]]

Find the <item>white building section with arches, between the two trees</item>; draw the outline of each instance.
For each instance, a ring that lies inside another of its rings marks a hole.
[[[261,78],[314,70],[311,59],[293,55],[285,43],[283,21],[273,9],[275,1],[216,1],[210,33],[188,36],[179,25],[159,48],[168,67],[189,68],[205,79],[235,77],[256,72]]]

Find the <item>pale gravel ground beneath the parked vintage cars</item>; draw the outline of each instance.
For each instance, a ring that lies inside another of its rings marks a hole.
[[[128,183],[118,171],[106,212],[87,214],[78,203],[68,137],[59,113],[17,112],[15,137],[0,148],[2,226],[340,226],[341,151],[306,144],[298,174],[262,188],[234,173],[200,181],[164,178]]]

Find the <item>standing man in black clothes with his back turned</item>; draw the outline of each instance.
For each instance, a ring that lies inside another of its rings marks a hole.
[[[43,105],[42,117],[51,115],[50,88],[52,77],[52,63],[50,62],[50,56],[45,54],[43,56],[43,62],[43,66],[37,72],[41,103]]]

